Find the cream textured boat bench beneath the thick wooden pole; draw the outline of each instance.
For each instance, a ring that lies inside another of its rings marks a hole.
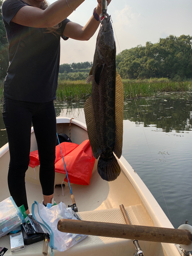
[[[133,224],[137,224],[137,218],[142,216],[143,207],[142,205],[135,205],[125,207],[127,214],[129,215]],[[81,220],[87,221],[100,221],[100,222],[110,222],[110,223],[120,223],[124,224],[124,219],[121,214],[119,208],[115,209],[105,209],[105,210],[95,210],[95,211],[86,211],[86,212],[78,212],[78,216]],[[143,225],[152,224],[150,220],[143,219]],[[20,250],[18,252],[14,252],[15,255],[41,255],[43,241],[34,243],[32,245],[25,245],[25,250]],[[148,246],[145,244],[146,242],[140,242],[140,246],[145,251],[147,249],[147,255],[155,255],[155,252],[162,251],[162,246],[160,243],[148,243]],[[10,250],[10,241],[9,236],[1,238],[1,246],[8,248],[9,250],[6,252],[7,256],[12,255]],[[148,247],[148,248],[147,248]],[[77,251],[78,250],[78,251]],[[162,251],[163,252],[163,251]],[[70,249],[62,252],[62,255],[86,255],[86,253],[91,253],[91,255],[106,255],[106,253],[110,253],[109,255],[133,255],[135,253],[135,247],[133,245],[132,240],[126,239],[117,239],[117,238],[106,238],[106,237],[95,237],[88,236],[86,239],[81,241],[78,245],[71,247]],[[51,250],[49,248],[48,255],[51,254]],[[60,252],[54,250],[54,255],[59,255]],[[157,254],[156,254],[157,255]],[[164,255],[159,254],[158,255]]]

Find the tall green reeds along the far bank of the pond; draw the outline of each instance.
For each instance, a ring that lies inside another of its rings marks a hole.
[[[166,78],[123,80],[124,100],[153,97],[164,92],[192,91],[192,81],[171,81]],[[85,101],[91,95],[91,84],[84,80],[58,80],[57,100]],[[3,81],[0,81],[0,100],[3,99]]]

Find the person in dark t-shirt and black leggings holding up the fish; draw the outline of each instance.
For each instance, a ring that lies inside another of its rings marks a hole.
[[[10,163],[8,186],[17,206],[29,214],[25,174],[29,165],[31,124],[37,140],[39,179],[44,205],[54,203],[56,99],[60,37],[89,40],[99,26],[101,0],[83,27],[67,17],[84,0],[5,0],[3,21],[9,42],[9,68],[4,82],[3,119]],[[111,0],[107,0],[108,4]],[[83,15],[83,14],[82,14]]]

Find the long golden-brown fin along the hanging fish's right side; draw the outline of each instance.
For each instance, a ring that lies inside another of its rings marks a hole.
[[[115,87],[115,145],[113,152],[118,158],[122,154],[123,145],[123,83],[120,75],[116,72]]]

